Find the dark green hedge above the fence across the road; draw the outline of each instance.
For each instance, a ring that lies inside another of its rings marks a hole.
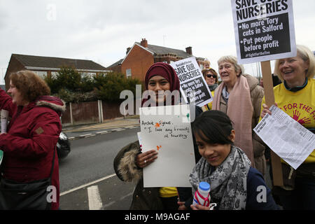
[[[44,78],[52,94],[65,102],[91,102],[102,99],[106,102],[120,102],[120,92],[131,90],[136,93],[136,85],[141,82],[135,78],[125,78],[123,73],[98,73],[94,76],[80,74],[72,68],[62,68],[56,77]]]

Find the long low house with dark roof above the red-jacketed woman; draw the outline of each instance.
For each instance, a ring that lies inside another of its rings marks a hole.
[[[60,70],[60,68],[64,66],[71,67],[80,73],[85,73],[87,75],[110,71],[104,66],[91,60],[12,54],[8,64],[8,69],[6,69],[6,75],[4,76],[6,90],[8,90],[10,85],[9,76],[12,72],[30,70],[34,71],[34,73],[37,73],[38,76],[41,77],[54,76]]]

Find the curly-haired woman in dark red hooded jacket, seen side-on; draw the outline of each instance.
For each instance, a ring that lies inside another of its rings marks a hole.
[[[59,117],[65,104],[50,97],[50,88],[35,73],[10,74],[10,89],[0,90],[0,109],[11,118],[7,132],[0,135],[3,151],[0,179],[26,183],[51,176],[51,209],[59,208],[59,164],[55,146],[62,130]],[[55,153],[55,157],[54,157]]]

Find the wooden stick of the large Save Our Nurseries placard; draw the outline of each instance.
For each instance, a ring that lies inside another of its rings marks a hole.
[[[272,70],[270,61],[260,62],[262,70],[262,79],[264,81],[265,102],[267,106],[274,104],[274,85],[272,83]],[[281,160],[274,151],[270,151],[272,161],[272,176],[274,186],[283,186]]]

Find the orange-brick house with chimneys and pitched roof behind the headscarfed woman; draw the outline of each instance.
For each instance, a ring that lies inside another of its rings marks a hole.
[[[107,69],[124,73],[126,77],[134,77],[144,81],[146,71],[148,71],[148,68],[152,64],[156,62],[169,64],[188,57],[193,57],[192,47],[186,48],[186,51],[165,48],[148,44],[146,38],[143,38],[140,43],[136,42],[132,48],[127,48],[125,58],[111,64]],[[207,59],[196,57],[196,60],[200,68],[204,69],[204,64],[207,63]]]

